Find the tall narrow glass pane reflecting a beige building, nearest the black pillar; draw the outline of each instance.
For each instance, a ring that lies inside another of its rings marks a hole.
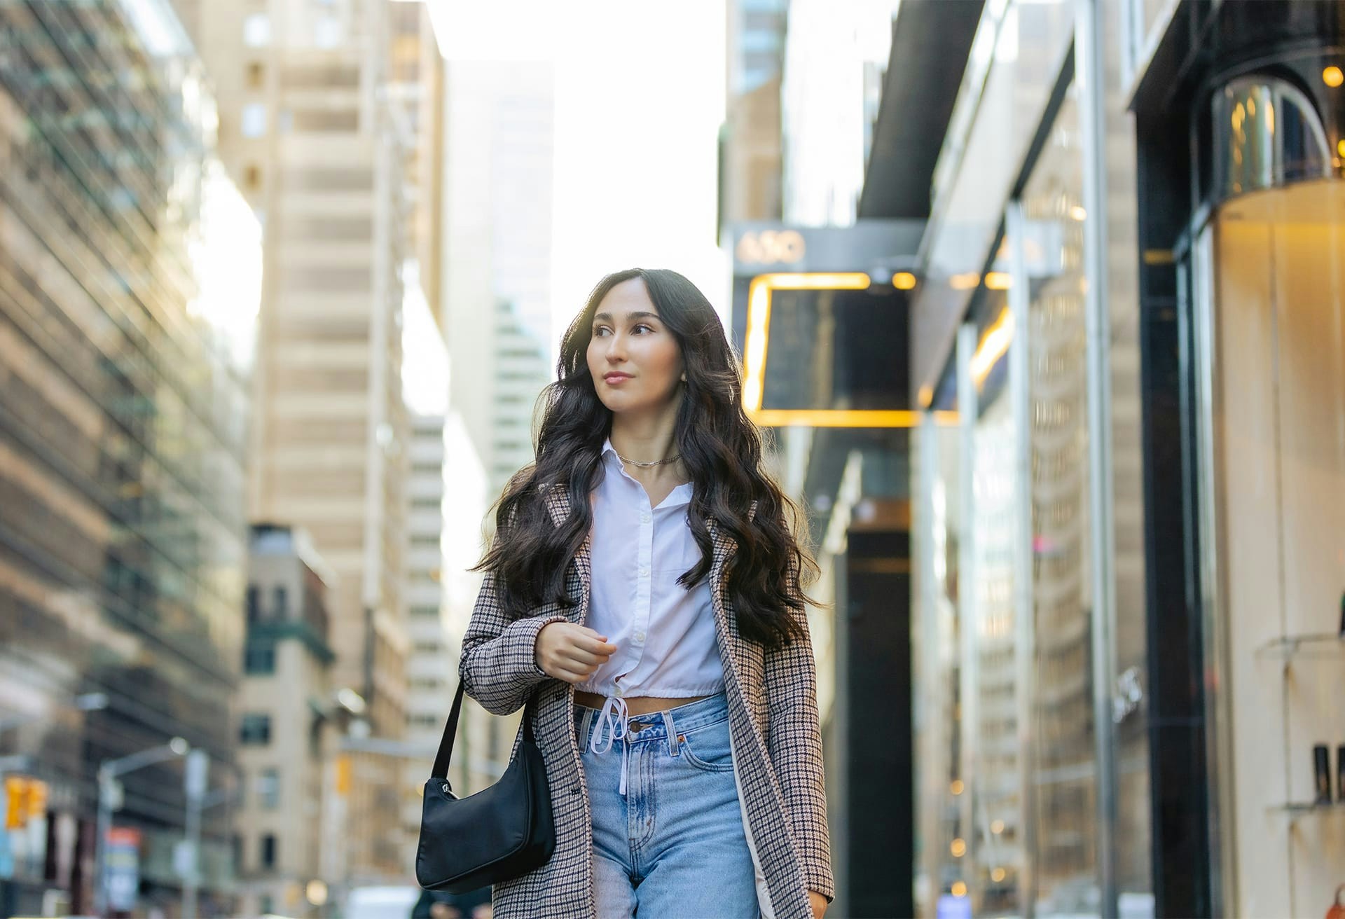
[[[1083,153],[1071,87],[1022,195],[1032,229],[1033,891],[1038,916],[1098,915]]]

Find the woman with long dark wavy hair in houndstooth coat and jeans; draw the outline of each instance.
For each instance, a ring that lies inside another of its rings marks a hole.
[[[459,667],[537,693],[555,854],[495,915],[822,916],[816,673],[791,502],[718,316],[670,270],[597,285],[510,482]]]

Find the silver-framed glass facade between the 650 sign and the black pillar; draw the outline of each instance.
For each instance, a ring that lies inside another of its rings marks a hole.
[[[1124,11],[1100,9],[1118,30]],[[935,274],[916,315],[967,304],[913,444],[925,915],[962,897],[974,915],[1154,912],[1134,121],[1124,47],[1100,48],[1104,79],[1085,93],[1085,23],[1069,12],[987,7],[981,101],[1014,91],[972,106],[967,140],[946,140],[940,164],[997,132],[1021,159],[947,166],[948,210],[925,246]],[[998,211],[971,194],[991,174]],[[954,254],[960,273],[943,266]],[[1093,417],[1098,378],[1110,398]],[[958,433],[935,420],[950,409]]]

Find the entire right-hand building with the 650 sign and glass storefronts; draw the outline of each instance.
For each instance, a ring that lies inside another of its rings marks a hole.
[[[724,235],[749,412],[846,611],[834,908],[1325,908],[1341,7],[904,0],[876,109],[834,50],[807,78],[845,38],[808,9],[784,219]]]

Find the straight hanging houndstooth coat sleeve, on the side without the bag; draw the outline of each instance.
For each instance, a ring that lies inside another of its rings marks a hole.
[[[799,593],[799,571],[791,566],[790,591]],[[771,705],[771,762],[788,809],[794,844],[810,891],[835,897],[831,834],[818,723],[818,667],[812,658],[806,610],[796,614],[802,631],[785,646],[765,653],[765,692]]]

